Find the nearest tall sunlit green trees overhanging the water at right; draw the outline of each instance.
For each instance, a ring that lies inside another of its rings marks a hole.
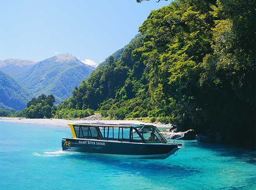
[[[151,12],[133,51],[159,113],[181,130],[255,134],[255,1],[174,1]],[[255,138],[255,137],[254,137]]]

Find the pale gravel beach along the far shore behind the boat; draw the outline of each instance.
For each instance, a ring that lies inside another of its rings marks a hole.
[[[133,124],[146,124],[136,120],[66,120],[66,119],[25,119],[25,118],[9,118],[0,117],[0,122],[15,122],[15,123],[27,123],[27,124],[37,124],[37,125],[50,125],[50,126],[60,126],[69,127],[68,123],[133,123]],[[161,125],[160,123],[147,123],[157,127],[170,127],[169,125]],[[1,123],[0,123],[1,125]]]

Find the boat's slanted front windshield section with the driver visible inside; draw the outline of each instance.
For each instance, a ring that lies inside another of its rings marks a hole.
[[[137,130],[134,130],[133,133],[139,133],[138,135],[147,143],[166,143],[165,137],[160,133],[159,129],[155,126],[138,126],[136,127]]]

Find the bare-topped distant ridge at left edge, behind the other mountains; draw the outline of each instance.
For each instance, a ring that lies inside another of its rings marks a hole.
[[[36,62],[31,60],[7,59],[0,61],[0,70],[19,80],[35,64]]]

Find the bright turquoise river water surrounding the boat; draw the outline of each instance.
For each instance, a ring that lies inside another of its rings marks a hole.
[[[0,189],[256,189],[255,151],[196,141],[165,160],[61,151],[69,128],[0,122]]]

